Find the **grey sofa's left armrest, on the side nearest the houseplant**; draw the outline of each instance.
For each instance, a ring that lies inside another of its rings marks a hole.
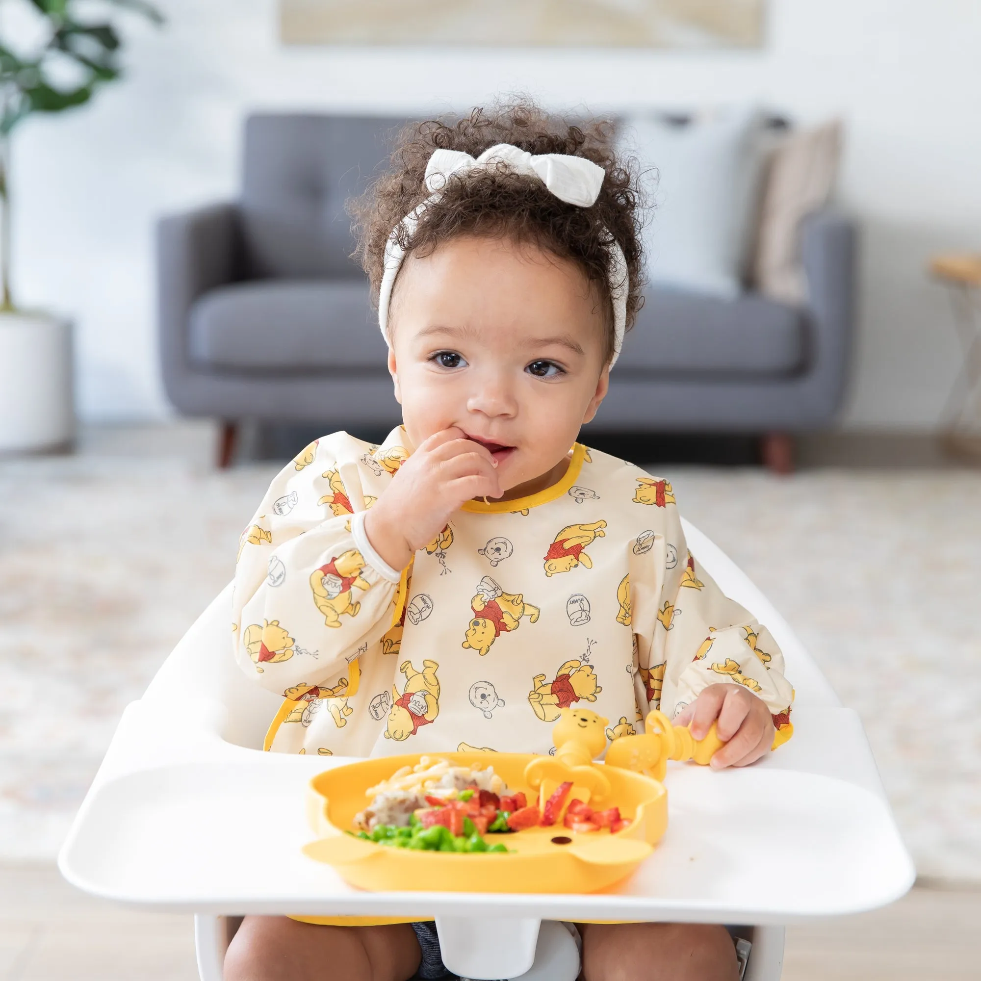
[[[157,331],[164,387],[181,408],[181,379],[190,370],[188,317],[194,302],[234,283],[241,268],[238,209],[212,204],[157,223]]]

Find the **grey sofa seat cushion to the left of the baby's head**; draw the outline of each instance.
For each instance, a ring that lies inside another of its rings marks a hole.
[[[387,374],[364,280],[222,286],[191,308],[188,346],[191,360],[208,368]]]

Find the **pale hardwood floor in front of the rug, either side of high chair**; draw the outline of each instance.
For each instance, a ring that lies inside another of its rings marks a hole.
[[[848,919],[792,927],[783,981],[976,981],[981,888],[914,889]],[[189,916],[78,893],[48,865],[0,865],[2,981],[195,981]]]

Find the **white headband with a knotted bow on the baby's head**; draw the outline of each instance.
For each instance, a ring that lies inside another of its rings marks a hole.
[[[462,153],[459,150],[434,150],[426,165],[426,188],[430,196],[402,219],[401,224],[388,236],[385,247],[385,275],[382,277],[378,298],[378,323],[386,339],[391,289],[405,258],[405,250],[398,241],[399,230],[411,237],[423,211],[434,201],[439,200],[442,188],[446,186],[446,181],[451,175],[462,174],[477,167],[489,168],[501,163],[506,164],[517,174],[538,178],[557,198],[580,208],[588,208],[595,203],[603,178],[606,176],[606,172],[601,167],[585,157],[571,157],[561,153],[534,156],[510,143],[491,146],[476,159],[469,153]],[[613,301],[613,357],[610,359],[612,368],[623,346],[630,283],[623,249],[615,239],[611,241],[609,250],[612,260],[609,279],[610,298]]]

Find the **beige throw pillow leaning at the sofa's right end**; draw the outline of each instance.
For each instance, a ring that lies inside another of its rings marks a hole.
[[[800,261],[800,223],[827,204],[838,171],[841,123],[792,133],[773,152],[760,208],[753,282],[766,296],[799,305],[807,299]]]

